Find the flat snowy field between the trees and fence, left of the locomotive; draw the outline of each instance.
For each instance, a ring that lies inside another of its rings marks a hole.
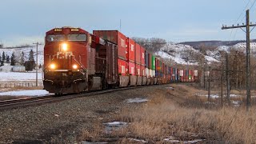
[[[0,72],[0,82],[31,81],[36,79],[35,73]],[[38,73],[38,80],[42,80],[42,73]]]

